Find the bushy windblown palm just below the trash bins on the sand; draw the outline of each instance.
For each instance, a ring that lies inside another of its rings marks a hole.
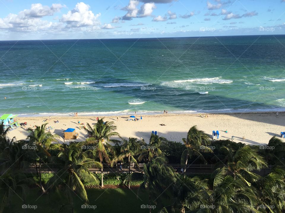
[[[228,147],[223,146],[220,148],[220,151],[226,153],[225,159],[222,161],[226,163],[228,170],[234,174],[234,178],[244,180],[249,186],[251,183],[248,181],[257,181],[260,178],[259,175],[252,171],[259,171],[267,167],[264,158],[249,145],[243,146],[238,151],[232,151]]]

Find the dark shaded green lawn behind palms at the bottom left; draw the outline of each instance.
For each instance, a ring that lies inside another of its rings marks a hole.
[[[129,190],[127,188],[116,189],[88,189],[89,205],[96,205],[96,209],[81,208],[83,201],[74,194],[74,212],[86,213],[86,212],[124,212],[124,213],[140,213],[148,212],[148,209],[142,209],[142,204],[148,204],[148,195],[146,193],[140,193],[140,198],[137,199],[137,190]],[[1,198],[3,193],[0,193]],[[17,195],[13,195],[11,201],[12,213],[65,213],[71,212],[68,200],[64,195],[64,191],[54,191],[48,194],[41,195],[38,189],[30,189],[26,198],[26,202],[23,202]],[[23,209],[23,204],[37,205],[37,209]],[[153,209],[152,212],[159,211],[159,207]],[[4,212],[9,213],[9,206],[6,206]]]

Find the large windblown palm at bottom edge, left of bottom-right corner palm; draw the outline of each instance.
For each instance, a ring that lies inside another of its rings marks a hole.
[[[259,200],[254,188],[228,173],[228,169],[223,167],[212,174],[213,192],[210,194],[208,206],[203,206],[206,207],[204,210],[213,213],[260,212],[257,210]]]

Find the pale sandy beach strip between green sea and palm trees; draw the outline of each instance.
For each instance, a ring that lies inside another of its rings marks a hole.
[[[165,137],[170,141],[182,142],[181,138],[186,138],[189,128],[197,125],[198,129],[205,131],[211,135],[213,130],[219,130],[219,139],[231,139],[235,137],[235,142],[242,142],[246,144],[256,145],[268,143],[273,135],[280,135],[280,132],[285,131],[284,118],[285,113],[280,112],[278,117],[274,112],[257,112],[257,113],[232,113],[232,114],[158,114],[158,115],[143,115],[143,120],[140,121],[127,121],[129,115],[126,116],[110,116],[105,117],[105,121],[113,121],[117,126],[117,132],[123,138],[135,137],[140,140],[144,138],[145,141],[149,140],[151,131],[157,131],[159,136]],[[140,118],[140,114],[137,114]],[[101,117],[100,117],[101,118]],[[81,123],[89,123],[94,125],[96,123],[96,116],[94,117],[18,117],[18,122],[27,122],[25,128],[30,128],[34,125],[42,125],[43,120],[47,119],[49,123],[47,126],[55,127],[51,130],[61,136],[58,140],[63,143],[63,131],[67,128],[75,128],[79,136],[76,140],[69,141],[85,141],[87,134],[83,129],[79,130],[77,120]],[[59,123],[54,121],[59,120]],[[161,126],[159,124],[165,124]],[[228,133],[225,133],[225,131]],[[28,132],[24,128],[17,128],[8,133],[8,137],[16,137],[17,140],[25,139]],[[243,140],[243,136],[245,140]],[[285,138],[282,138],[285,142]]]

